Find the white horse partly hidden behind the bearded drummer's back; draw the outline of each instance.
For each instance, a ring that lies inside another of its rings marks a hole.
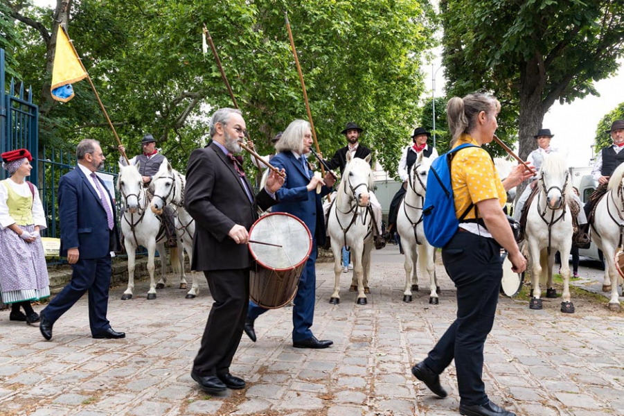
[[[154,214],[162,215],[166,205],[173,208],[175,218],[175,234],[181,248],[177,250],[180,269],[180,288],[186,289],[186,271],[184,270],[184,250],[188,254],[190,263],[193,263],[193,236],[195,235],[195,220],[184,209],[184,187],[186,178],[184,175],[171,167],[169,162],[163,161],[159,171],[152,177],[151,187],[154,191],[152,198],[152,211]],[[193,286],[186,293],[186,299],[193,299],[199,293],[199,283],[197,274],[190,272],[193,279]],[[157,284],[156,288],[163,288],[164,285]]]

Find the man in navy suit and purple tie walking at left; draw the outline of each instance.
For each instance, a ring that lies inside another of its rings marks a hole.
[[[111,283],[111,251],[118,250],[115,204],[96,171],[104,164],[100,143],[84,139],[76,148],[78,165],[58,185],[60,255],[71,264],[71,281],[41,313],[46,340],[60,316],[89,291],[89,326],[93,338],[125,338],[111,328],[106,313]]]

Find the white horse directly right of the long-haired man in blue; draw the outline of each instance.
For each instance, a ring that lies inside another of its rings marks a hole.
[[[353,261],[353,279],[357,279],[357,304],[366,304],[364,288],[368,288],[373,248],[373,211],[369,207],[369,192],[374,179],[371,155],[365,159],[352,158],[347,152],[347,165],[342,174],[336,198],[330,208],[328,233],[334,253],[334,292],[331,304],[340,303],[339,283],[342,273],[342,248],[350,247]]]

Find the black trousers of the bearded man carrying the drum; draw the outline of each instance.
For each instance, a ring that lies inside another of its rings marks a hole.
[[[204,272],[213,307],[193,369],[201,376],[229,372],[240,344],[249,301],[249,268]]]

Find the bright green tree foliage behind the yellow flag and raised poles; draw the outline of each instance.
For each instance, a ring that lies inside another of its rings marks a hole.
[[[365,129],[362,141],[395,171],[402,139],[413,122],[423,89],[420,55],[434,42],[429,1],[380,0],[81,0],[72,3],[69,35],[93,79],[128,153],[139,151],[144,132],[176,168],[207,139],[208,116],[232,106],[208,51],[201,51],[205,22],[224,71],[260,153],[297,118],[307,119],[284,12],[294,33],[312,117],[326,157],[344,146],[348,121]],[[51,27],[57,12],[17,10]],[[19,69],[42,88],[50,74],[42,61],[49,45],[32,25]],[[39,37],[39,42],[35,40]],[[36,52],[36,53],[35,53]],[[54,103],[46,114],[44,141],[100,139],[105,152],[116,143],[87,80],[75,98]]]

